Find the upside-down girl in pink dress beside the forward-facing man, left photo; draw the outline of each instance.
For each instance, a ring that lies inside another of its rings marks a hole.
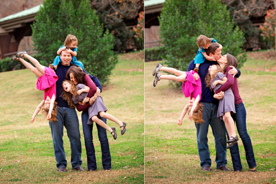
[[[23,57],[29,59],[36,67],[33,67],[30,63],[25,61]],[[33,123],[36,115],[42,108],[42,116],[47,117],[47,120],[56,121],[57,107],[56,100],[56,81],[58,76],[51,69],[42,66],[35,58],[29,56],[27,52],[17,52],[16,56],[13,56],[11,60],[19,60],[25,65],[30,71],[32,71],[38,78],[36,82],[36,88],[38,90],[44,90],[44,100],[37,106],[33,117],[30,120]]]

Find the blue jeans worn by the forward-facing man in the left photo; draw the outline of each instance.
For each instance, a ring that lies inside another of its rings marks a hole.
[[[62,139],[64,126],[67,130],[67,136],[69,137],[71,145],[71,165],[72,168],[75,169],[82,164],[82,145],[79,133],[79,119],[75,109],[69,107],[57,107],[57,109],[57,121],[49,121],[56,157],[56,167],[59,169],[61,167],[66,168],[67,166]]]

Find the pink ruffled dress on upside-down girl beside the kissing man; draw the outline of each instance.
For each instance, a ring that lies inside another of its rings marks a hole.
[[[197,81],[194,80],[193,74],[197,73],[193,70],[186,72],[186,80],[182,82],[182,91],[185,94],[185,97],[197,98],[199,94],[199,100],[201,100],[201,80],[200,77]]]

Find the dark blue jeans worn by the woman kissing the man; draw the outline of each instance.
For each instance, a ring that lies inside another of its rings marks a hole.
[[[236,123],[239,136],[243,142],[243,147],[245,150],[245,157],[249,168],[256,167],[256,161],[254,157],[253,147],[251,139],[247,133],[246,129],[246,110],[243,103],[235,104],[236,114],[232,114],[232,118]],[[227,135],[228,139],[229,136]],[[239,141],[238,141],[239,142]],[[238,144],[235,144],[230,148],[233,168],[235,171],[240,171],[243,169],[240,161],[240,152]]]

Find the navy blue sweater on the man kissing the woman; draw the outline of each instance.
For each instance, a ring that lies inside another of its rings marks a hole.
[[[210,90],[209,87],[206,87],[206,84],[204,82],[205,76],[208,74],[208,68],[210,65],[212,64],[218,64],[217,61],[209,61],[207,59],[204,60],[203,63],[200,64],[199,66],[199,70],[198,70],[198,74],[200,76],[201,79],[201,88],[202,88],[202,94],[201,94],[201,101],[200,102],[213,102],[213,103],[218,103],[219,101],[213,97],[213,95],[215,94],[214,91]],[[194,70],[195,64],[194,64],[194,60],[191,61],[191,63],[189,64],[189,67],[187,69],[187,71],[190,70]],[[235,75],[237,78],[240,76],[240,70],[238,70],[238,74]]]

